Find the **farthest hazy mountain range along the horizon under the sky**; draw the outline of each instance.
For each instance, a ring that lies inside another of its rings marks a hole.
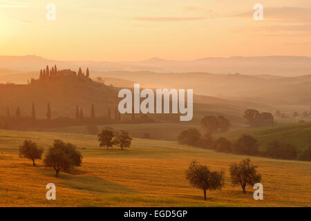
[[[15,71],[37,71],[46,65],[57,65],[59,69],[87,67],[93,71],[147,70],[158,73],[240,73],[243,75],[280,75],[295,77],[311,74],[311,57],[269,56],[269,57],[207,57],[192,61],[174,61],[152,58],[135,62],[109,61],[58,61],[34,55],[0,56],[0,68]]]

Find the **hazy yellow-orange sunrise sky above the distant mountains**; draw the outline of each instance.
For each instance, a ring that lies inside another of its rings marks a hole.
[[[46,5],[56,20],[46,20]],[[254,21],[253,6],[264,6]],[[311,57],[310,0],[0,0],[0,55],[137,61],[150,57]]]

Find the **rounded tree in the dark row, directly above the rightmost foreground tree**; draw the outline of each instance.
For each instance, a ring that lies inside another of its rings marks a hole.
[[[250,135],[242,135],[234,142],[232,152],[241,155],[256,155],[258,153],[258,142]]]

